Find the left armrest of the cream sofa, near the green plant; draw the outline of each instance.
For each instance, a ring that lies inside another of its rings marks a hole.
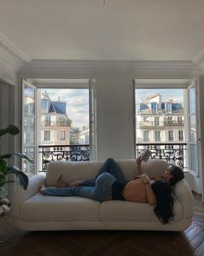
[[[24,190],[22,187],[17,187],[14,195],[11,199],[11,216],[16,219],[19,218],[19,209],[22,205],[22,202],[28,200],[31,196],[36,194],[39,190],[41,184],[45,181],[45,175],[37,174],[29,178],[29,186],[27,190]]]

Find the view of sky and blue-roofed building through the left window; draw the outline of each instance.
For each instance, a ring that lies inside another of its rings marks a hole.
[[[41,89],[41,145],[89,144],[88,89]]]

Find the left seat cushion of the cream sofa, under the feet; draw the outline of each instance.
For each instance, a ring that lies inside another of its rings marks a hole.
[[[100,203],[77,196],[43,196],[35,194],[22,203],[24,221],[99,220]]]

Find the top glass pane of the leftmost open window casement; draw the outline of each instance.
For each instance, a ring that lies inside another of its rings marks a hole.
[[[35,89],[25,85],[24,87],[24,114],[35,115]]]

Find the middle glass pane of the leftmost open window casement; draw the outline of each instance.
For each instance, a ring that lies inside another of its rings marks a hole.
[[[35,144],[35,118],[24,116],[24,145]]]

